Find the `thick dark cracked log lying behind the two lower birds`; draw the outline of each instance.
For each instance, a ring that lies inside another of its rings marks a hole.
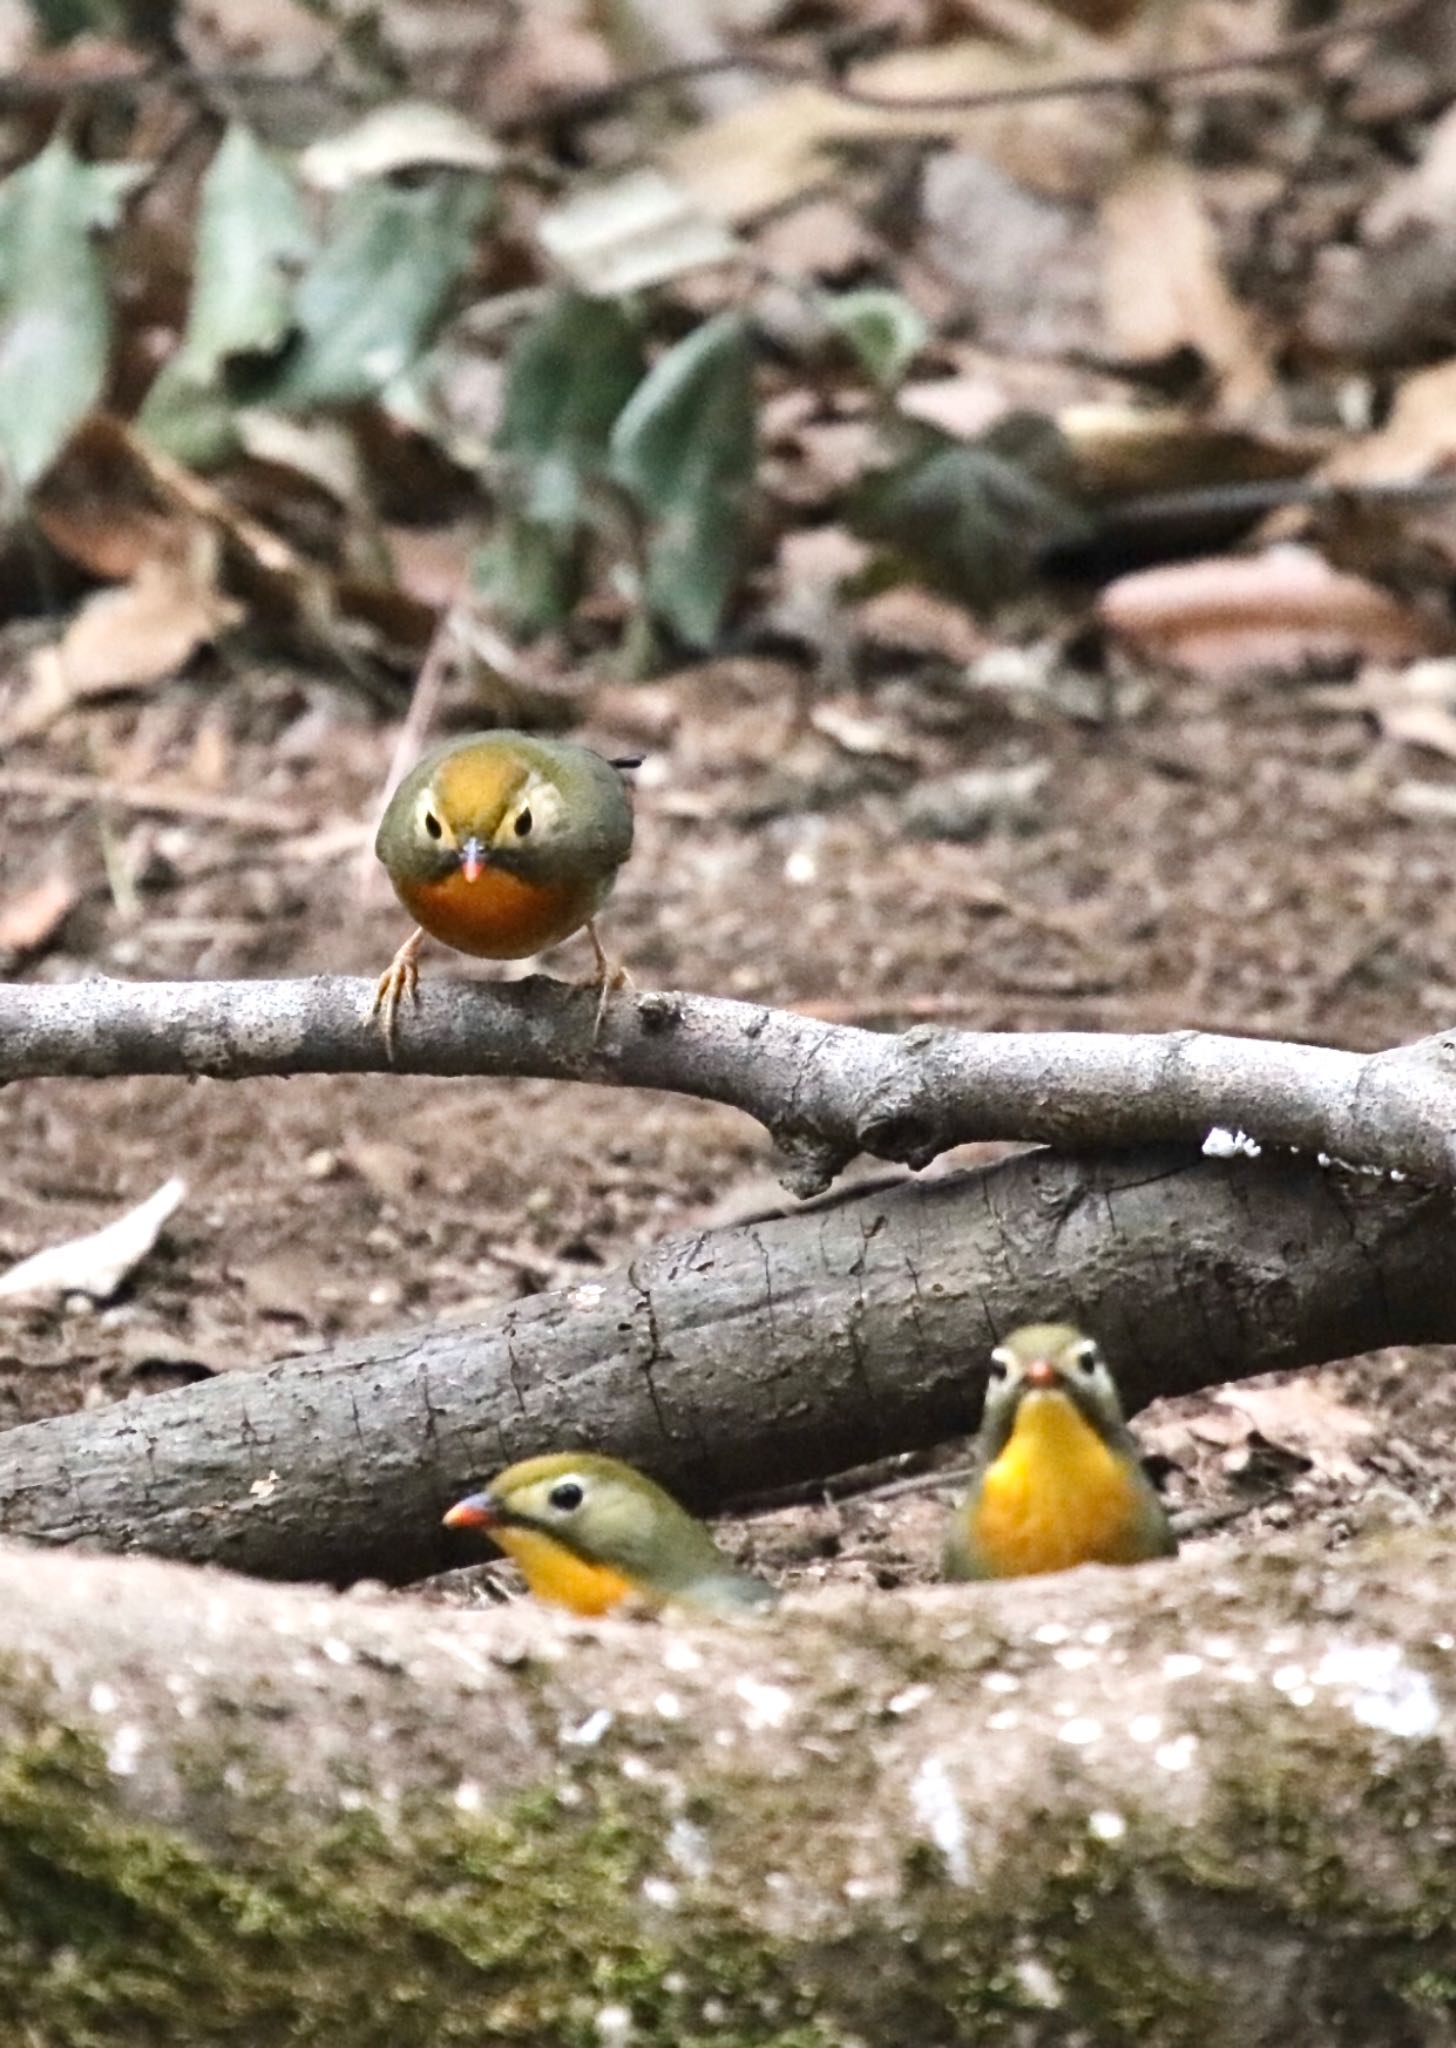
[[[1450,1194],[1304,1159],[1028,1153],[674,1239],[477,1325],[10,1430],[0,1530],[405,1581],[479,1554],[440,1516],[541,1450],[616,1452],[715,1507],[942,1442],[1028,1319],[1096,1331],[1130,1407],[1452,1339],[1454,1223]]]

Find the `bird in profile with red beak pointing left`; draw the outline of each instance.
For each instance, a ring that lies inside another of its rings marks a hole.
[[[620,1458],[588,1450],[508,1466],[485,1493],[451,1507],[444,1526],[485,1530],[520,1565],[539,1599],[575,1614],[606,1614],[637,1599],[743,1616],[778,1599],[659,1485]]]

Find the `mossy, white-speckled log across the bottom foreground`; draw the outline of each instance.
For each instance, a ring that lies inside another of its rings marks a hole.
[[[6,1548],[6,2040],[1438,2048],[1454,1565],[709,1626]]]

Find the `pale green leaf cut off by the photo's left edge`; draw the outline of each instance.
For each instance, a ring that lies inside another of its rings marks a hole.
[[[27,492],[106,381],[111,307],[96,229],[113,227],[135,168],[82,164],[55,137],[0,184],[0,463]]]

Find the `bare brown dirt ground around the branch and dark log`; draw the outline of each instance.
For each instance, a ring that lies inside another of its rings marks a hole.
[[[1153,676],[1134,715],[1094,723],[911,657],[852,698],[795,682],[737,659],[594,700],[584,737],[647,752],[608,913],[639,985],[885,1026],[1208,1026],[1352,1047],[1456,1014],[1450,827],[1397,815],[1409,758],[1347,694]],[[76,895],[14,973],[381,969],[405,918],[367,819],[395,731],[342,686],[260,668],[90,707],[14,748],[0,897],[51,874]],[[969,838],[915,836],[938,778],[1028,764],[1046,770],[1030,801]],[[141,813],[125,795],[78,807],[74,774],[186,784],[217,815]],[[272,829],[229,821],[227,797],[274,811]],[[549,971],[584,971],[584,950]],[[426,973],[457,971],[426,954]],[[547,1083],[27,1083],[0,1100],[0,1264],[172,1174],[188,1184],[121,1300],[0,1319],[4,1423],[471,1317],[776,1198],[766,1145],[733,1112]],[[1315,1522],[1337,1542],[1456,1507],[1446,1362],[1382,1354],[1165,1403],[1139,1427],[1196,1540]],[[948,1483],[905,1491],[915,1470],[889,1493],[735,1522],[729,1540],[790,1579],[924,1577]],[[471,1597],[496,1583],[463,1581]]]

